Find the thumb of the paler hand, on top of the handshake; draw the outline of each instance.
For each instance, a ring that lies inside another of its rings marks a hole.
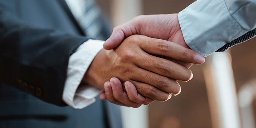
[[[135,20],[114,27],[111,36],[104,42],[103,48],[106,50],[114,49],[123,42],[124,38],[138,34],[138,31],[139,26],[135,23]]]

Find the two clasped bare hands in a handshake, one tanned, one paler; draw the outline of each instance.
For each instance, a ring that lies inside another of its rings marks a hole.
[[[180,94],[177,80],[191,80],[189,68],[205,61],[185,43],[178,14],[138,16],[115,27],[103,47],[83,82],[104,90],[101,99],[133,108]]]

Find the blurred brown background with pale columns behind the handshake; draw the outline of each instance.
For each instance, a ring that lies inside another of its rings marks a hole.
[[[178,13],[195,0],[96,0],[113,26],[137,15]],[[194,65],[181,94],[139,109],[122,107],[127,128],[253,128],[256,38]]]

